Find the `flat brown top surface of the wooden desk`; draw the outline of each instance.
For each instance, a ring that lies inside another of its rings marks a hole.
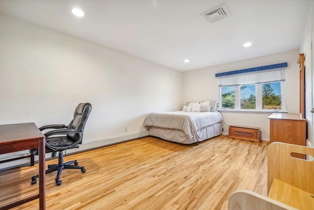
[[[0,145],[12,141],[44,138],[34,122],[0,125]]]

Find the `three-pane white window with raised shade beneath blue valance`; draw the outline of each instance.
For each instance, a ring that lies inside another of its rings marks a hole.
[[[218,85],[220,110],[286,111],[284,68],[218,76]]]

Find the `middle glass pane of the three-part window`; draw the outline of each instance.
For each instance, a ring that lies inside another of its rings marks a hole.
[[[241,109],[256,109],[256,85],[240,87]]]

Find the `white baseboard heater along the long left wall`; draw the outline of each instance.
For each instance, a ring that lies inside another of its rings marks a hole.
[[[131,141],[133,139],[139,139],[139,138],[142,138],[142,137],[145,137],[148,135],[149,135],[148,131],[141,131],[138,133],[131,133],[128,135],[123,135],[123,136],[116,136],[116,137],[112,137],[112,138],[100,139],[100,140],[91,141],[91,142],[83,142],[81,145],[79,145],[79,148],[71,149],[71,150],[65,150],[64,154],[71,154],[74,152],[80,152],[80,151],[84,151],[84,150],[101,148],[101,147],[105,147],[108,145],[113,145],[113,144],[118,144],[121,142]],[[0,161],[12,159],[12,158],[16,158],[16,157],[21,157],[21,156],[26,156],[27,154],[29,154],[28,150],[1,154],[0,155]],[[51,158],[51,153],[46,153],[46,158]],[[38,161],[38,155],[35,155],[35,161]],[[10,162],[1,163],[0,164],[0,171],[5,170],[5,169],[9,169],[9,168],[18,167],[18,166],[29,165],[29,163],[30,163],[30,158],[24,158],[24,159],[20,159],[20,160],[14,160],[14,161],[10,161]]]

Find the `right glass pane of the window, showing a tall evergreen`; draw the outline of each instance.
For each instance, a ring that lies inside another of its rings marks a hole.
[[[263,109],[281,109],[280,82],[262,84]]]

